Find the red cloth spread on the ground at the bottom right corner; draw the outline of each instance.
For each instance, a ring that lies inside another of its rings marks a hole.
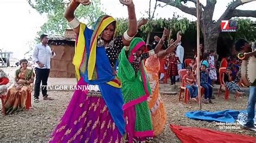
[[[226,133],[206,128],[170,125],[172,131],[184,142],[256,142],[255,137]]]

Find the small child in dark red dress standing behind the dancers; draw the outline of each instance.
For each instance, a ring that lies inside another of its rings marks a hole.
[[[167,74],[170,75],[171,78],[171,85],[176,84],[176,76],[178,74],[178,64],[180,60],[176,55],[176,52],[171,53],[171,57],[169,59],[169,67],[167,70]]]

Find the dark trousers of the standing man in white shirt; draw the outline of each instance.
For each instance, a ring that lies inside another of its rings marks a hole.
[[[41,81],[42,81],[42,94],[43,97],[47,97],[47,81],[48,81],[48,76],[50,73],[50,69],[39,69],[39,68],[35,68],[36,70],[36,82],[35,82],[35,94],[34,94],[34,98],[39,98],[39,94],[40,94],[40,85],[41,85]]]

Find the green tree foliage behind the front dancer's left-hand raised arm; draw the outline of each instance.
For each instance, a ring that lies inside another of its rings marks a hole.
[[[67,28],[70,28],[68,22],[64,18],[66,4],[64,0],[28,0],[33,9],[36,9],[41,15],[46,13],[48,21],[41,26],[39,34],[48,33],[50,35],[63,35]],[[79,5],[75,11],[75,16],[80,22],[92,26],[100,15],[104,12],[100,9],[100,1],[94,0],[90,6]]]

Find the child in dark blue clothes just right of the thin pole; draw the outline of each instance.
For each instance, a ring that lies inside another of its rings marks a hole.
[[[200,70],[200,85],[205,89],[205,103],[212,103],[212,86],[208,84],[208,73],[206,71],[206,65],[201,66]],[[207,101],[208,100],[208,101]]]

